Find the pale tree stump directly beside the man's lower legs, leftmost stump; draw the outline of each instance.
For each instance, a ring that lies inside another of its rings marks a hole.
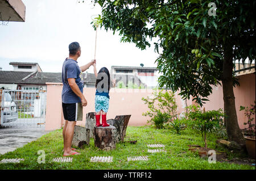
[[[72,145],[81,148],[83,145],[90,144],[90,129],[75,126],[74,136],[72,140]]]

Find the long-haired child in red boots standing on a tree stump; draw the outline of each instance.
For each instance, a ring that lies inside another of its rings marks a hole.
[[[106,113],[109,110],[109,90],[110,86],[115,85],[110,81],[110,74],[107,68],[101,68],[100,71],[96,70],[96,64],[94,66],[94,74],[96,76],[96,96],[95,96],[95,111],[96,111],[96,127],[109,127],[106,123]],[[104,85],[105,83],[105,85]],[[100,124],[100,117],[102,124]]]

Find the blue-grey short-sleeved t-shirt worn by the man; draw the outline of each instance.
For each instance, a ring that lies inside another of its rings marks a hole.
[[[80,103],[81,99],[77,96],[68,84],[68,78],[75,78],[76,84],[79,86],[80,91],[84,87],[84,80],[82,78],[82,71],[77,65],[77,61],[68,59],[63,62],[62,66],[62,83],[63,89],[61,98],[63,103]]]

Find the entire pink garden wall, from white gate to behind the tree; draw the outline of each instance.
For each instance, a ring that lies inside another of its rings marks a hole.
[[[240,110],[240,106],[249,106],[255,100],[255,74],[242,75],[240,78],[240,87],[234,88],[236,97],[237,116],[240,128],[244,128],[243,123],[246,117]],[[64,123],[61,107],[61,83],[47,83],[47,108],[46,108],[46,130],[51,131],[60,129]],[[85,125],[86,113],[94,112],[94,88],[85,88],[84,96],[88,106],[84,107],[83,121],[77,121],[77,125]],[[182,100],[176,92],[177,113],[184,112],[185,100]],[[148,111],[142,97],[151,95],[152,90],[146,89],[112,89],[110,90],[109,111],[107,119],[114,119],[117,115],[131,115],[128,125],[140,126],[146,125],[149,117],[142,116],[143,112]],[[222,87],[213,87],[213,94],[209,96],[210,102],[207,102],[205,110],[218,110],[223,108]],[[187,100],[187,105],[192,104],[192,99]],[[255,115],[254,115],[255,117]]]

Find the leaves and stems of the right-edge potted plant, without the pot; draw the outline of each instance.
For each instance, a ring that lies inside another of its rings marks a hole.
[[[254,105],[251,104],[251,107],[243,107],[240,106],[240,111],[245,110],[245,116],[247,117],[247,123],[243,123],[244,125],[248,125],[248,130],[250,133],[250,138],[255,138],[255,124],[252,124],[254,118],[252,117],[255,115],[255,101]]]

